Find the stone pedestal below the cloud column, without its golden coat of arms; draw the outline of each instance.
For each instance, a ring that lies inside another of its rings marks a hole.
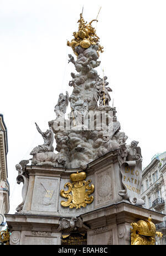
[[[120,166],[117,151],[109,152],[90,163],[87,178],[95,185],[94,201],[80,209],[61,205],[60,190],[71,182],[70,174],[79,169],[26,166],[29,183],[23,208],[7,214],[11,244],[61,244],[61,236],[73,232],[58,231],[62,218],[80,216],[84,225],[76,232],[87,233],[88,245],[130,244],[132,222],[152,216],[154,224],[163,221],[163,214],[122,200]],[[68,190],[68,189],[66,189]]]

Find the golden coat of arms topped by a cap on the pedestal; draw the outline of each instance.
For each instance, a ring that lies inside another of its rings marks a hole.
[[[89,186],[91,180],[85,181],[86,173],[81,171],[79,173],[73,173],[70,175],[72,183],[66,183],[64,187],[68,186],[68,191],[61,189],[60,195],[64,198],[68,198],[68,201],[61,201],[61,205],[69,208],[81,208],[81,206],[86,207],[86,204],[91,204],[94,200],[94,196],[90,196],[94,192],[94,185]],[[87,191],[86,191],[87,190]],[[72,193],[69,194],[69,193]]]

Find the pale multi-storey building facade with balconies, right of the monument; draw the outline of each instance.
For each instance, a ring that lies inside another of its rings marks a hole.
[[[141,193],[145,208],[166,214],[166,152],[156,154],[143,170]],[[156,229],[163,233],[156,244],[166,245],[166,216]]]

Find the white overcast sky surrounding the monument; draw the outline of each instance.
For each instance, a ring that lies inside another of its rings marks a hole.
[[[139,141],[144,167],[166,150],[165,0],[0,0],[0,112],[8,129],[10,213],[22,201],[15,164],[43,142],[34,122],[46,130],[59,93],[71,93],[74,67],[66,40],[77,29],[83,4],[86,21],[101,7],[98,72],[102,76],[103,68],[108,77],[128,143]]]

